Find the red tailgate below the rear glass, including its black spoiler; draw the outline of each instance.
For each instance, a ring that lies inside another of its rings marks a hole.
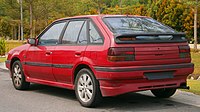
[[[190,48],[183,33],[120,34],[115,36],[114,47],[134,49],[134,59],[121,61],[123,66],[165,65],[191,61]]]

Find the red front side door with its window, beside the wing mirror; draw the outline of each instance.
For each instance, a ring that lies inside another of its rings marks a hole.
[[[25,72],[35,79],[55,81],[52,72],[52,56],[66,22],[50,25],[38,38],[37,46],[30,46],[26,53]]]

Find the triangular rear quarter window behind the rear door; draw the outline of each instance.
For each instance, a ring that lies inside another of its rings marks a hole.
[[[92,44],[102,44],[103,39],[96,30],[94,24],[90,21],[89,23],[89,33],[90,33],[90,43]]]

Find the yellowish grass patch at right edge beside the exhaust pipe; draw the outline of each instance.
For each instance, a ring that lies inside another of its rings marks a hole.
[[[189,90],[183,90],[187,92],[192,92],[194,94],[200,95],[200,81],[199,80],[187,80],[188,86],[190,86]]]

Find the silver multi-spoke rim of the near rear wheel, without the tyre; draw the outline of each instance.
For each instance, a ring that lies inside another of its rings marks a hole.
[[[88,74],[82,74],[78,80],[78,95],[83,102],[88,102],[93,95],[93,82]]]

